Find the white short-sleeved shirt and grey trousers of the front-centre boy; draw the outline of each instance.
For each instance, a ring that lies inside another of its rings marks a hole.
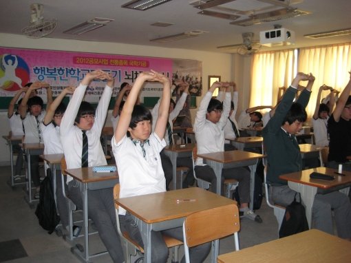
[[[120,142],[112,138],[111,144],[120,179],[120,198],[166,191],[166,180],[160,160],[160,151],[166,146],[164,139],[161,140],[155,133],[152,133],[143,145],[127,136],[124,136]],[[118,213],[122,231],[127,231],[129,236],[143,247],[145,237],[140,235],[138,220],[122,207]],[[169,250],[162,238],[162,233],[182,240],[182,227],[166,231],[152,231],[151,257],[153,262],[166,262],[168,258]],[[192,248],[190,250],[191,262],[203,262],[210,248],[210,243]]]

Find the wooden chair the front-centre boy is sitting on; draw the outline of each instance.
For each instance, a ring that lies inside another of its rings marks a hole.
[[[114,186],[114,199],[119,198],[120,196],[120,184],[116,184]],[[117,221],[117,231],[118,235],[120,235],[120,241],[124,244],[125,247],[125,260],[127,263],[131,263],[131,255],[136,256],[138,251],[141,253],[144,253],[144,249],[134,240],[131,239],[131,237],[128,235],[127,232],[122,232],[120,230],[120,220],[118,217],[118,204],[115,202],[115,208],[116,208],[116,221]],[[171,238],[168,235],[163,235],[164,242],[166,242],[168,248],[174,248],[174,253],[173,253],[173,262],[178,262],[178,249],[179,246],[183,244],[180,240],[177,240],[175,238]]]

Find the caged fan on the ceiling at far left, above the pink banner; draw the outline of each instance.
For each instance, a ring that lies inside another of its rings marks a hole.
[[[23,34],[33,39],[39,39],[55,30],[57,25],[56,19],[44,19],[41,16],[43,5],[32,3],[30,5],[30,12],[30,24],[22,29]]]

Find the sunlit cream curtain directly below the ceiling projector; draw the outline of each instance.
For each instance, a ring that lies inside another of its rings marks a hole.
[[[251,65],[250,107],[275,105],[279,87],[289,87],[295,76],[294,50],[256,53]]]

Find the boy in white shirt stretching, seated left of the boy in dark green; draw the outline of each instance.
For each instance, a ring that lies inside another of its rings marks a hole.
[[[226,87],[223,103],[212,98],[212,94],[217,87]],[[211,85],[209,92],[202,98],[194,124],[198,154],[224,151],[224,125],[231,109],[229,87],[229,83],[215,82]],[[205,165],[202,158],[199,157],[195,162],[194,169],[197,177],[211,182],[211,191],[215,192],[217,178],[213,169]],[[222,169],[222,187],[225,178],[234,178],[239,181],[240,212],[244,217],[259,223],[262,222],[259,215],[248,209],[248,202],[250,202],[250,172],[248,169],[246,167]]]

